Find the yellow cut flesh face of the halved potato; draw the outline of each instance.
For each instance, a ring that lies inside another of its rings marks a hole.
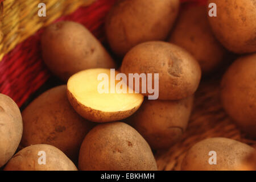
[[[98,92],[98,84],[102,82],[102,80],[97,80],[100,73],[106,73],[109,77],[109,93]],[[115,71],[115,76],[118,73]],[[115,81],[115,85],[118,82],[119,80]],[[105,112],[131,110],[143,102],[143,95],[129,93],[133,90],[128,86],[127,93],[110,93],[110,69],[86,69],[76,73],[68,80],[68,90],[80,104]]]

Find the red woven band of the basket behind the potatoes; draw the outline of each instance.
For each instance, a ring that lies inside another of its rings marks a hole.
[[[117,0],[98,0],[89,7],[81,7],[59,20],[73,20],[84,24],[102,42],[104,19]],[[207,0],[181,0],[181,2],[205,3]],[[1,2],[1,0],[0,0]],[[47,81],[51,73],[40,55],[40,36],[44,28],[18,44],[0,62],[0,93],[6,94],[21,106],[27,98]]]

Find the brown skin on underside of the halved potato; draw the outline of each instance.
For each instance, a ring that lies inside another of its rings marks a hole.
[[[133,107],[133,109],[126,111],[105,112],[92,109],[91,107],[86,107],[85,105],[81,104],[79,101],[77,101],[73,94],[69,92],[69,90],[67,90],[67,95],[70,104],[77,111],[77,113],[81,115],[81,117],[97,123],[105,123],[125,119],[131,114],[135,113],[135,111],[137,111],[141,106],[138,105],[137,107]]]

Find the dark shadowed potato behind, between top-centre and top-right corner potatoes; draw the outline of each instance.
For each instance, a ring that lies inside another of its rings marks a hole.
[[[190,52],[199,61],[204,74],[216,69],[226,53],[214,37],[207,16],[205,6],[184,9],[169,40]]]

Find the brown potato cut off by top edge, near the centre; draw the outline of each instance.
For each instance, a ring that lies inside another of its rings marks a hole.
[[[139,43],[166,39],[178,11],[179,0],[118,1],[105,21],[110,47],[124,56]]]

